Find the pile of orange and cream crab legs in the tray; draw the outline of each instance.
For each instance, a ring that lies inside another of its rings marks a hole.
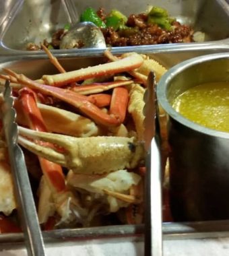
[[[105,51],[108,63],[66,72],[43,48],[60,73],[36,81],[9,69],[3,69],[7,75],[1,75],[1,79],[9,79],[17,95],[14,107],[22,125],[18,142],[38,156],[42,169],[40,223],[47,223],[57,213],[59,223],[90,226],[104,205],[106,213],[125,207],[129,224],[141,222],[142,207],[137,205],[143,203],[143,179],[136,169],[142,170],[145,157],[143,94],[147,73],[157,64],[144,67],[143,55],[115,57]],[[166,69],[158,66],[160,76]],[[123,72],[129,77],[120,75]],[[119,75],[112,82],[96,82],[97,77],[114,74]],[[112,95],[101,94],[111,89]],[[55,100],[66,102],[82,115],[51,106]],[[107,106],[109,110],[104,110]],[[132,136],[123,125],[127,110],[136,131]],[[67,177],[63,167],[69,169]],[[79,196],[71,187],[87,193]],[[82,204],[82,198],[87,203]]]

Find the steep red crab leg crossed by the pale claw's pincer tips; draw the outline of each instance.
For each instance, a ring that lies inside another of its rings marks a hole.
[[[20,100],[22,101],[26,115],[29,118],[30,126],[36,130],[46,130],[40,111],[36,107],[34,93],[28,88],[23,88],[20,91]],[[55,150],[61,150],[53,145],[53,143],[41,141],[36,141],[36,143],[40,144],[40,146],[48,146],[55,148]],[[61,222],[71,222],[73,220],[77,220],[80,223],[84,222],[84,216],[87,216],[87,210],[79,205],[77,197],[67,189],[65,185],[65,176],[61,166],[46,160],[46,158],[42,158],[42,156],[38,156],[38,159],[40,160],[40,166],[44,177],[46,178],[45,181],[47,181],[48,188],[51,190],[51,197],[55,203],[55,210],[59,216],[61,216]],[[38,205],[38,213],[42,214],[42,210],[43,207],[41,203]],[[46,216],[49,216],[51,213],[53,213],[53,209],[51,209],[51,212],[48,210]],[[41,216],[40,214],[38,215]]]

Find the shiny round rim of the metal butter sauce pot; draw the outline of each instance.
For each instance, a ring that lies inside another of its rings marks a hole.
[[[166,71],[166,73],[164,73],[164,75],[162,75],[160,81],[158,82],[158,86],[156,88],[156,94],[157,94],[158,102],[162,106],[162,108],[166,111],[166,113],[170,117],[172,117],[172,119],[176,120],[178,123],[181,123],[182,125],[185,125],[186,127],[189,127],[190,129],[193,129],[195,131],[199,131],[200,133],[205,133],[207,135],[214,136],[214,137],[222,137],[222,138],[229,139],[229,132],[216,131],[214,129],[203,127],[183,117],[181,114],[176,112],[174,108],[172,108],[166,96],[166,90],[168,88],[168,85],[170,84],[172,79],[174,79],[174,77],[178,75],[178,73],[181,73],[185,69],[189,69],[193,65],[197,65],[199,63],[204,63],[204,62],[208,62],[216,59],[228,59],[229,61],[229,53],[215,53],[210,55],[203,55],[201,57],[188,59],[187,61],[183,61],[181,63],[178,63],[174,67],[171,67],[170,69],[168,69],[168,71]]]

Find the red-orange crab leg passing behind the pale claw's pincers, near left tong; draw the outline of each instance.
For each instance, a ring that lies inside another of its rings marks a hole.
[[[19,101],[22,104],[22,109],[28,119],[30,128],[36,131],[46,131],[42,115],[36,105],[34,92],[28,88],[22,88],[19,93]],[[43,141],[36,141],[36,143],[40,144],[40,146],[56,148],[53,143]],[[77,221],[81,223],[84,220],[82,217],[87,216],[86,210],[80,206],[77,198],[65,186],[65,176],[61,166],[46,160],[42,156],[38,156],[38,159],[45,178],[41,183],[42,188],[40,189],[40,201],[38,204],[40,222],[46,222],[48,217],[57,211],[61,216],[61,222]],[[47,207],[48,211],[44,211],[44,207]]]

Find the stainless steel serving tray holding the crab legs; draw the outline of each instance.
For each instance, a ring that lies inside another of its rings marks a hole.
[[[141,49],[142,50],[142,49]],[[214,46],[208,46],[207,49],[186,49],[185,51],[160,51],[155,53],[154,49],[148,48],[147,51],[139,51],[138,48],[133,48],[133,51],[144,53],[156,59],[166,68],[170,68],[176,63],[198,57],[201,55],[229,51],[226,45],[216,49]],[[113,49],[115,55],[121,52],[118,49]],[[87,53],[88,56],[81,56],[79,53],[72,55],[55,55],[63,67],[67,70],[78,69],[88,65],[96,65],[100,63],[104,57],[102,50],[96,55],[93,52]],[[14,55],[13,57],[1,57],[0,69],[7,67],[18,73],[24,73],[29,77],[36,79],[44,73],[57,73],[55,67],[50,63],[46,55],[23,56]],[[29,205],[28,205],[29,207]],[[229,235],[229,220],[217,220],[206,222],[168,222],[163,223],[164,239],[184,239],[184,238],[207,238],[207,237],[222,237]],[[143,225],[119,225],[119,226],[102,226],[93,228],[77,228],[63,229],[42,232],[44,241],[47,243],[60,241],[82,241],[88,239],[100,238],[126,238],[131,241],[141,241],[143,239]],[[20,234],[0,234],[1,245],[5,243],[22,243],[24,236]]]

